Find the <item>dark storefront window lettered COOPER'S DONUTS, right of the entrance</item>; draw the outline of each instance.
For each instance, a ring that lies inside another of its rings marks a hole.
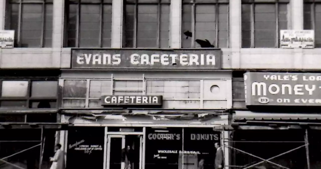
[[[215,142],[220,132],[212,128],[146,128],[145,169],[214,168]]]

